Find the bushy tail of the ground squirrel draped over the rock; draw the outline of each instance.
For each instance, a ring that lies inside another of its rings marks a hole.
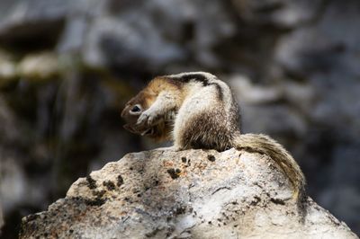
[[[260,154],[268,155],[279,165],[293,184],[293,199],[302,203],[305,197],[305,176],[299,164],[293,159],[284,146],[275,139],[266,135],[244,134],[235,138],[235,147],[238,149],[250,149]]]

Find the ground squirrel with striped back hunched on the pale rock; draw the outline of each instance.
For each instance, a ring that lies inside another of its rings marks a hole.
[[[293,198],[304,197],[305,177],[283,146],[271,137],[240,134],[238,103],[215,75],[191,72],[154,78],[121,112],[133,133],[172,139],[176,150],[230,147],[266,154],[293,183]]]

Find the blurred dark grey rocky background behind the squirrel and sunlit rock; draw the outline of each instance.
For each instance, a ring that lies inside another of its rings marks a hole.
[[[243,131],[283,143],[310,196],[360,234],[359,26],[358,0],[1,0],[1,236],[156,147],[121,108],[151,77],[192,70],[228,82]]]

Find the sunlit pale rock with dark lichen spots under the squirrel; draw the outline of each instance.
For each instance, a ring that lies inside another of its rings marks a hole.
[[[265,155],[168,148],[124,156],[78,179],[20,238],[356,238],[292,188]]]

